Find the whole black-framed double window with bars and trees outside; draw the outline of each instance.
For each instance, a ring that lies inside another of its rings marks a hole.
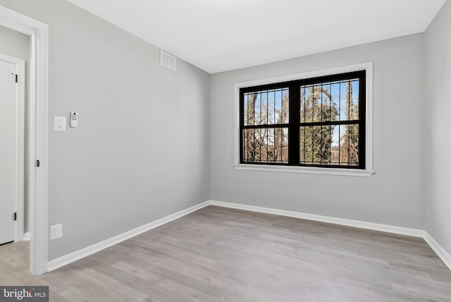
[[[240,88],[240,163],[365,169],[366,71]]]

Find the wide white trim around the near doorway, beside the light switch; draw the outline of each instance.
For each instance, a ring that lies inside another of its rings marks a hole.
[[[30,215],[30,272],[47,272],[49,167],[49,26],[0,6],[0,25],[30,35],[30,85],[27,104],[28,212]],[[34,164],[39,159],[40,167]]]

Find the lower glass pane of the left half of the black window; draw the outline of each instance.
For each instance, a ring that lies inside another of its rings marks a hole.
[[[288,163],[288,128],[245,129],[244,162]]]

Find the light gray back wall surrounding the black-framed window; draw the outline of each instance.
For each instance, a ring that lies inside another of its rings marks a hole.
[[[233,85],[372,61],[371,178],[233,168]],[[210,197],[402,227],[424,227],[424,37],[410,35],[210,78]]]

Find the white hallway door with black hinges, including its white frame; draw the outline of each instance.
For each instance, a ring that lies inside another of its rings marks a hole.
[[[25,61],[0,54],[0,244],[24,236]]]

